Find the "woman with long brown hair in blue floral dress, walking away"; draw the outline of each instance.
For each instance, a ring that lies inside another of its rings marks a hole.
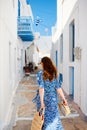
[[[64,130],[61,124],[58,111],[58,97],[60,94],[63,102],[67,105],[63,91],[57,80],[57,69],[48,57],[41,59],[42,70],[37,74],[39,85],[40,108],[44,109],[44,125],[43,130]],[[39,103],[38,103],[39,104]]]

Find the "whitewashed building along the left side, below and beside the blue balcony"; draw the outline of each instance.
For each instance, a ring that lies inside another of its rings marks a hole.
[[[17,35],[18,0],[0,0],[0,130],[14,109],[13,98],[24,76],[25,45]]]

